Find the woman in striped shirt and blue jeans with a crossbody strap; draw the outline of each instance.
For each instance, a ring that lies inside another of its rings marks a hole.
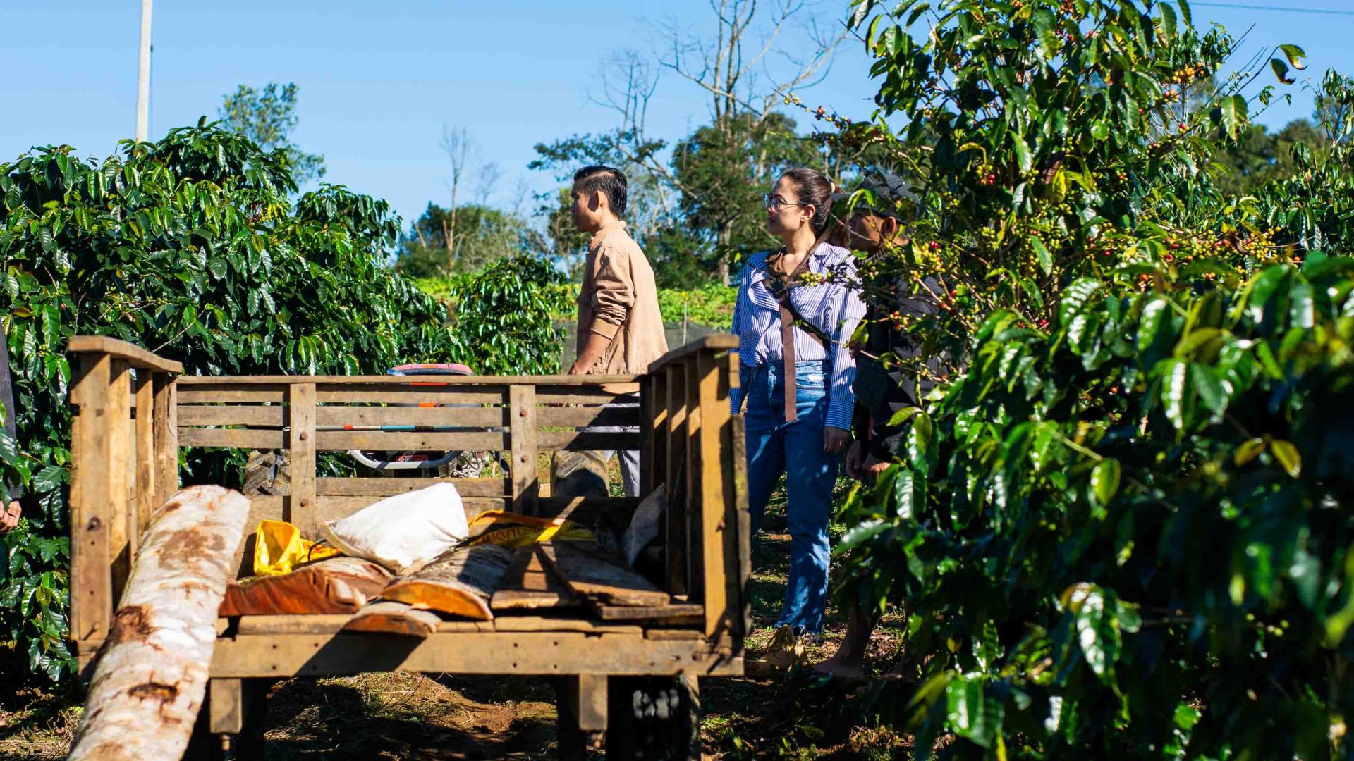
[[[747,497],[753,532],[785,475],[789,582],[777,627],[816,636],[827,597],[827,515],[850,437],[856,363],[848,351],[865,314],[852,253],[823,242],[833,184],[785,172],[766,196],[766,229],[784,241],[743,267],[734,306],[746,401]]]

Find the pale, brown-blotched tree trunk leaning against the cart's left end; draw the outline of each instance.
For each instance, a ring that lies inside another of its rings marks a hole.
[[[183,756],[248,515],[238,492],[192,486],[150,516],[69,758]]]

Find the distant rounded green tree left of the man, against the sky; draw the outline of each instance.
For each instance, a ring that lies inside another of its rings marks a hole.
[[[456,233],[448,257],[452,214],[456,214]],[[512,213],[478,203],[462,204],[455,211],[429,203],[403,236],[395,268],[410,278],[474,272],[500,259],[547,248],[540,233]]]

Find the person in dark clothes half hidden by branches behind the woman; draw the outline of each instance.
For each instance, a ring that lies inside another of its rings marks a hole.
[[[896,202],[910,194],[895,176],[867,180],[862,187],[875,194],[873,204],[860,204],[839,229],[842,245],[864,252],[869,259],[887,256],[909,245]],[[853,412],[854,443],[846,452],[846,474],[873,482],[896,459],[910,422],[892,422],[896,413],[921,406],[934,382],[930,374],[918,374],[915,360],[925,359],[940,370],[940,357],[922,357],[921,343],[904,329],[909,321],[936,314],[934,280],[913,286],[903,279],[890,298],[867,295],[865,332],[856,349],[856,408]],[[898,320],[895,320],[895,317]],[[848,609],[846,635],[837,653],[814,666],[818,672],[841,678],[862,676],[865,649],[877,619],[858,607]]]

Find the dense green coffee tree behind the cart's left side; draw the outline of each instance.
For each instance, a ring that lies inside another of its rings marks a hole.
[[[214,125],[0,162],[0,313],[7,314],[23,525],[0,538],[0,636],[57,678],[66,650],[70,366],[76,333],[123,339],[190,374],[383,372],[459,360],[445,309],[380,267],[399,226],[385,202],[324,186],[295,203],[279,153]],[[238,483],[242,454],[195,452],[187,478]]]

